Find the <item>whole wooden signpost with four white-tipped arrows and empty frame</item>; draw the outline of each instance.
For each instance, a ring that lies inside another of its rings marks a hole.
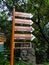
[[[16,18],[19,17],[19,18]],[[34,31],[34,28],[30,27],[30,25],[33,24],[32,20],[28,20],[28,18],[32,18],[33,15],[30,13],[23,13],[23,12],[16,12],[15,8],[13,9],[13,21],[12,21],[12,40],[11,40],[11,59],[10,59],[10,65],[14,65],[14,48],[15,48],[15,39],[16,40],[30,40],[32,41],[35,36],[30,34],[30,32]],[[27,18],[27,19],[23,19],[23,18]],[[16,26],[15,24],[20,24],[21,26]],[[23,26],[22,24],[25,24],[27,26]],[[28,26],[29,25],[29,26]],[[29,32],[29,34],[20,34],[20,33],[15,33],[15,31],[19,32]],[[17,43],[18,44],[18,43]],[[20,43],[21,44],[21,43]],[[24,42],[22,43],[24,44]],[[32,48],[31,43],[28,43],[29,46],[26,42],[25,45],[22,45],[23,47],[16,47],[15,49],[28,49],[28,48]]]

